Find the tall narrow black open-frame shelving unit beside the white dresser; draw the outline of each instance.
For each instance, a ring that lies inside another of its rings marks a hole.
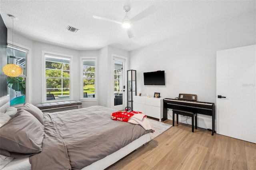
[[[127,70],[127,107],[133,111],[133,97],[137,95],[136,70]]]

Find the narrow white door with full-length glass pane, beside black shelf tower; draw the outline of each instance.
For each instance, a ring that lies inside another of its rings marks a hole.
[[[126,106],[126,91],[125,91],[125,59],[113,57],[113,98],[112,108],[116,110],[123,110]]]

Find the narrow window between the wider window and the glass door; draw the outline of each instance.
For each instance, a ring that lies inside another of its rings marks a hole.
[[[83,98],[95,98],[96,58],[82,59]]]

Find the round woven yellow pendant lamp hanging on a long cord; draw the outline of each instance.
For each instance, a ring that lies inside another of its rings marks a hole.
[[[14,32],[13,19],[15,17],[12,15],[8,15],[8,16],[10,18],[12,18],[12,55],[13,55],[13,32]],[[3,67],[3,72],[5,75],[7,75],[9,77],[17,77],[17,76],[21,75],[22,68],[16,64],[7,64]]]

